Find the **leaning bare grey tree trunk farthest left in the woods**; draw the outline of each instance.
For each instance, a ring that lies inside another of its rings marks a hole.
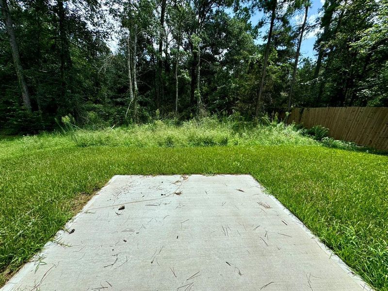
[[[23,98],[24,107],[29,113],[32,113],[31,99],[28,92],[27,82],[24,78],[23,67],[20,62],[19,48],[16,43],[16,36],[14,30],[14,24],[11,14],[9,12],[7,0],[0,0],[1,14],[4,16],[4,24],[9,36],[9,43],[11,45],[12,58],[14,59],[14,65],[16,70],[17,81],[19,82],[21,95]]]

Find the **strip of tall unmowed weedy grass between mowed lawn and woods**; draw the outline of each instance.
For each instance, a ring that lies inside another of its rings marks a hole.
[[[283,123],[253,125],[215,118],[191,120],[175,125],[155,121],[117,129],[76,130],[77,146],[193,147],[253,145],[313,145],[316,142],[293,126]]]

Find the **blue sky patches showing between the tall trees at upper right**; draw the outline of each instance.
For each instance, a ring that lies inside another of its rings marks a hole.
[[[311,2],[312,2],[312,4],[311,4],[311,7],[309,8],[308,14],[307,14],[308,25],[314,24],[316,22],[316,19],[317,19],[318,14],[319,14],[319,10],[322,8],[324,0],[312,0]],[[255,15],[253,15],[251,17],[252,24],[256,25],[262,17],[263,17],[262,12],[258,12]],[[303,21],[303,17],[304,17],[304,11],[301,11],[300,15],[293,17],[292,22],[295,24],[297,22],[301,23]],[[301,57],[302,58],[304,58],[304,57],[310,57],[312,59],[316,58],[316,56],[315,56],[316,51],[314,50],[314,42],[316,40],[315,35],[318,32],[318,30],[319,30],[319,28],[315,29],[314,31],[305,33],[304,38],[303,38],[303,42],[302,42],[302,46],[301,46]],[[268,27],[263,27],[260,30],[260,36],[258,39],[258,43],[264,42],[262,39],[263,39],[263,37],[265,37],[267,35],[267,33],[268,33]]]

